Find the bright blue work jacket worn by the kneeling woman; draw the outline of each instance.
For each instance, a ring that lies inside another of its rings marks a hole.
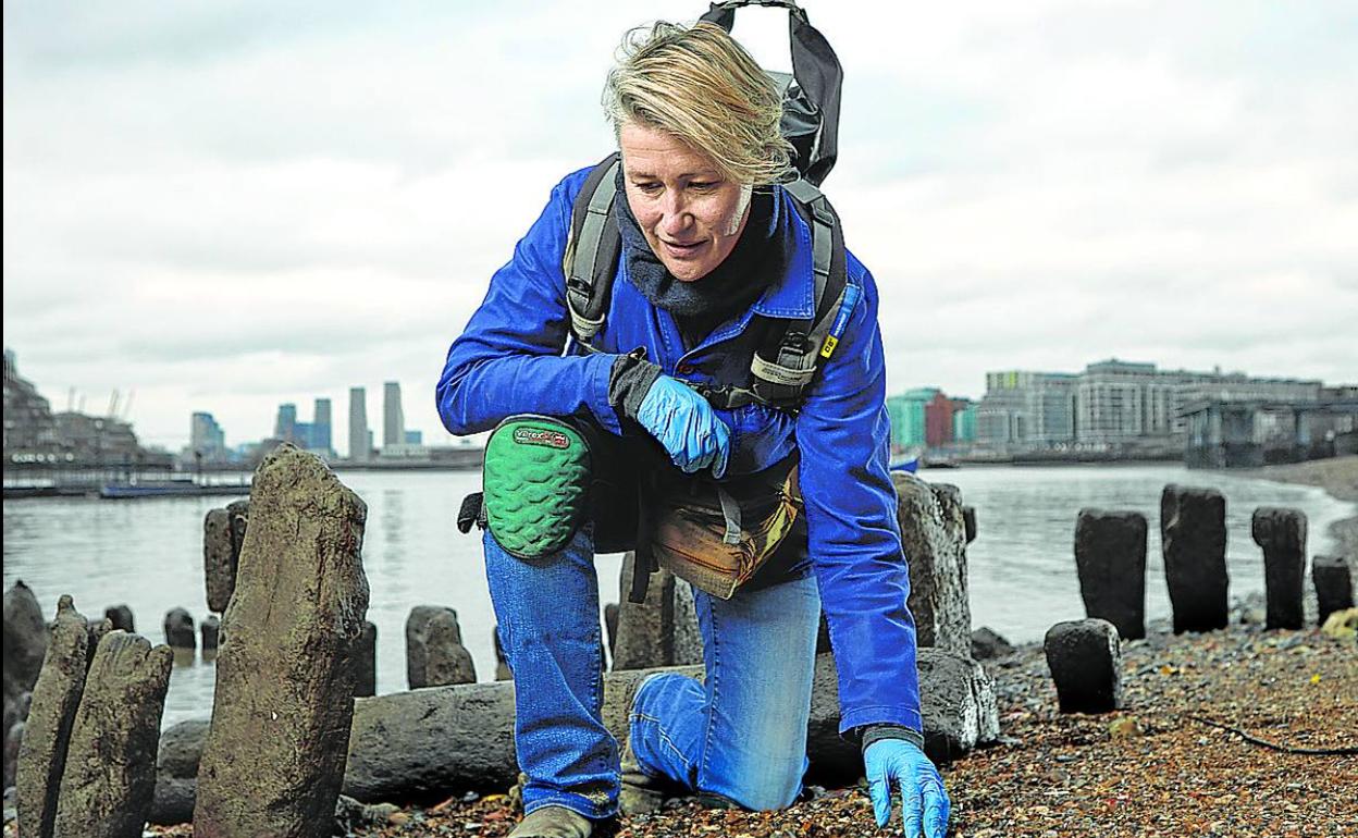
[[[645,346],[648,360],[667,375],[746,386],[752,348],[740,338],[754,315],[812,316],[811,230],[792,198],[777,189],[793,250],[785,276],[748,311],[684,352],[674,316],[642,296],[627,280],[626,259],[619,258],[607,319],[593,340],[602,352],[587,353],[573,348],[573,341],[568,348],[561,262],[572,204],[588,171],[568,175],[553,189],[542,216],[509,263],[490,278],[485,302],[452,342],[436,388],[439,416],[451,433],[489,431],[517,413],[584,412],[621,433],[619,416],[608,402],[618,354]],[[727,478],[760,471],[800,450],[809,560],[839,670],[839,731],[880,723],[919,731],[915,625],[906,607],[910,577],[887,473],[889,422],[877,288],[853,254],[846,262],[847,281],[862,293],[796,416],[763,405],[717,412],[732,431]]]

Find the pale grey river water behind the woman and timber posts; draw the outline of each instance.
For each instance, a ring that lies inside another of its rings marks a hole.
[[[482,680],[494,678],[490,596],[479,541],[458,532],[462,497],[479,473],[341,473],[368,504],[364,568],[371,587],[368,619],[378,626],[378,693],[406,689],[405,619],[417,604],[456,608],[463,640]],[[923,471],[930,482],[959,486],[976,507],[978,538],[968,547],[971,613],[1012,641],[1040,640],[1059,619],[1084,617],[1074,572],[1076,515],[1081,508],[1130,509],[1149,523],[1148,617],[1168,617],[1160,557],[1160,493],[1165,484],[1214,486],[1226,497],[1228,565],[1233,596],[1263,589],[1263,558],[1249,536],[1260,505],[1304,511],[1309,550],[1334,547],[1329,523],[1354,505],[1320,489],[1274,484],[1173,464],[964,467]],[[100,501],[34,498],[4,501],[4,587],[23,580],[46,614],[71,594],[86,617],[126,603],[137,629],[163,642],[166,611],[206,615],[202,580],[202,517],[231,498]],[[621,557],[596,562],[603,602],[617,602]],[[210,713],[215,666],[198,657],[177,666],[164,725]]]

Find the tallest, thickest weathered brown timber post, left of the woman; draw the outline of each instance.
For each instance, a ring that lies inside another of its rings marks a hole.
[[[330,834],[353,718],[349,657],[368,610],[365,517],[319,458],[291,444],[255,471],[198,770],[198,838]]]

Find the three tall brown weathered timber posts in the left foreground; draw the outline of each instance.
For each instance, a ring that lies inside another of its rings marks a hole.
[[[224,603],[194,835],[320,838],[334,822],[353,718],[367,508],[292,445],[261,464],[251,501]],[[24,838],[141,835],[172,651],[109,629],[87,668],[87,622],[61,598],[19,750]]]

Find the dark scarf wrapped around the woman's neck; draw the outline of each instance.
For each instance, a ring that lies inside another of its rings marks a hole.
[[[792,251],[782,201],[775,190],[756,189],[750,200],[750,220],[731,254],[708,276],[680,283],[646,243],[618,168],[618,232],[627,261],[627,278],[653,306],[674,315],[687,348],[697,346],[718,325],[743,312],[786,269]]]

